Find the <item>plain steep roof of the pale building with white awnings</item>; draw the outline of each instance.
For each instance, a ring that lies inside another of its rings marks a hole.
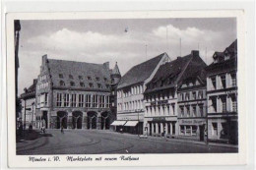
[[[165,53],[131,68],[121,79],[118,88],[146,81],[160,63]]]

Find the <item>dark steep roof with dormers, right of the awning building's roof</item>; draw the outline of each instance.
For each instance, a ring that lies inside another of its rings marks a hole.
[[[197,51],[184,57],[178,57],[169,63],[160,66],[153,80],[147,85],[146,93],[160,89],[174,87],[183,80],[196,76],[206,63],[200,58]]]

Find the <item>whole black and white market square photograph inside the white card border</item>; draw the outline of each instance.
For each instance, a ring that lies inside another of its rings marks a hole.
[[[235,18],[14,25],[18,155],[238,151]]]

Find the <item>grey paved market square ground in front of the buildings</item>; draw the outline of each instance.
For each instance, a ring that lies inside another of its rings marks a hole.
[[[137,135],[98,130],[47,130],[33,141],[17,142],[17,154],[102,154],[102,153],[218,153],[237,148],[177,142],[162,138],[140,139]]]

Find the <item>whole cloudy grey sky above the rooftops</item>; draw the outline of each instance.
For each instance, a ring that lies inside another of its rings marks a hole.
[[[171,60],[199,50],[209,65],[236,39],[234,18],[21,21],[18,94],[39,75],[41,56],[102,64],[123,76],[166,52]],[[125,31],[127,30],[127,31]],[[181,43],[180,43],[181,42]]]

